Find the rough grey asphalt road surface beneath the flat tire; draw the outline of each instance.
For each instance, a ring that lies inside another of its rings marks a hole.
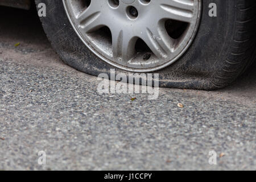
[[[55,54],[34,11],[0,14],[0,170],[256,169],[255,65],[212,92],[100,95],[97,77]]]

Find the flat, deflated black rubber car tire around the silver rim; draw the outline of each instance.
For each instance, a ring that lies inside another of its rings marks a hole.
[[[98,76],[100,73],[128,74],[96,56],[69,22],[63,1],[35,0],[45,3],[41,17],[53,49],[71,67]],[[230,85],[255,60],[256,1],[204,0],[195,39],[179,59],[159,73],[159,86],[212,90]],[[216,3],[217,16],[209,16],[209,4]]]

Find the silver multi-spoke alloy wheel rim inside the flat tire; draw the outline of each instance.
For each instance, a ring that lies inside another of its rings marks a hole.
[[[199,27],[201,0],[63,0],[84,44],[100,59],[132,72],[174,63]]]

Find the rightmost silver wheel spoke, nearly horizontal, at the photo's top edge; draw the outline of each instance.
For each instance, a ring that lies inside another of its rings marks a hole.
[[[159,18],[169,18],[181,22],[191,22],[193,18],[194,3],[191,0],[159,0]]]

